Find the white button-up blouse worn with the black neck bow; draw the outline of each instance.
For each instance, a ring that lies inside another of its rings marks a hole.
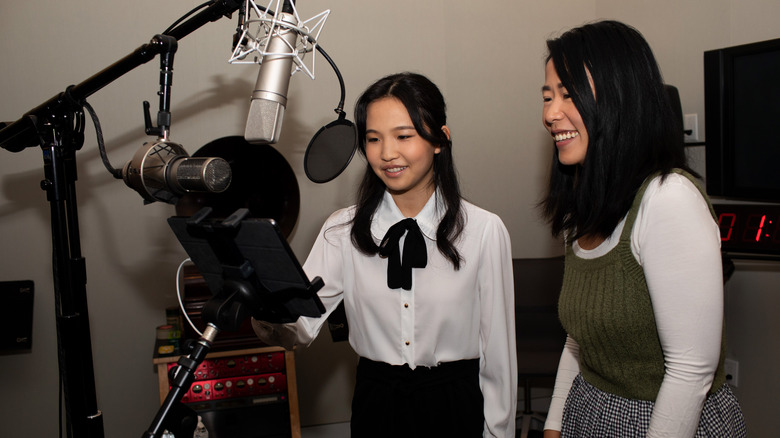
[[[456,271],[436,247],[443,214],[437,199],[431,196],[414,218],[425,236],[428,264],[412,270],[408,291],[387,287],[387,259],[366,256],[352,245],[350,225],[345,224],[354,207],[328,218],[303,266],[310,278],[320,276],[325,282],[318,295],[326,313],[298,320],[298,343],[311,343],[344,300],[349,342],[362,357],[412,369],[479,358],[484,436],[511,437],[517,357],[509,234],[498,216],[463,201],[465,227],[456,241],[463,262]],[[385,193],[371,225],[376,242],[403,219]]]

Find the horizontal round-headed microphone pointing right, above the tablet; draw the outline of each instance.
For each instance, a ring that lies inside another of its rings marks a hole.
[[[219,157],[190,157],[178,143],[147,142],[122,168],[122,179],[145,203],[175,204],[188,192],[224,192],[232,179],[230,163]]]

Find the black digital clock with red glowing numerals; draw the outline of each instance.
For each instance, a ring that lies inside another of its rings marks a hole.
[[[714,204],[723,252],[780,255],[780,205]]]

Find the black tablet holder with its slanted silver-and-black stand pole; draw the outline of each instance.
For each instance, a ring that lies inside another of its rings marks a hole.
[[[205,207],[189,218],[169,219],[201,275],[212,279],[208,283],[213,296],[201,313],[206,329],[192,344],[190,354],[180,357],[179,366],[172,368],[168,395],[142,438],[159,438],[166,429],[176,437],[192,436],[197,414],[181,399],[189,391],[194,373],[220,329],[236,331],[250,316],[284,323],[294,322],[300,315],[320,316],[325,311],[316,295],[324,284],[322,279],[309,281],[302,269],[299,271],[292,252],[279,251],[288,247],[278,231],[270,232],[261,222],[244,223],[249,214],[246,208],[221,222],[206,220],[211,211]],[[262,250],[252,252],[250,247]],[[253,266],[271,267],[275,272],[259,272]],[[219,280],[214,282],[216,273]]]

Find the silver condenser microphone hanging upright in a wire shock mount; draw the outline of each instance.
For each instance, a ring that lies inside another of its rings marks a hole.
[[[299,34],[290,0],[285,0],[282,12],[268,34],[268,48],[260,62],[260,72],[249,104],[244,138],[253,144],[273,144],[279,141],[282,119],[287,106],[287,90],[293,68]]]

